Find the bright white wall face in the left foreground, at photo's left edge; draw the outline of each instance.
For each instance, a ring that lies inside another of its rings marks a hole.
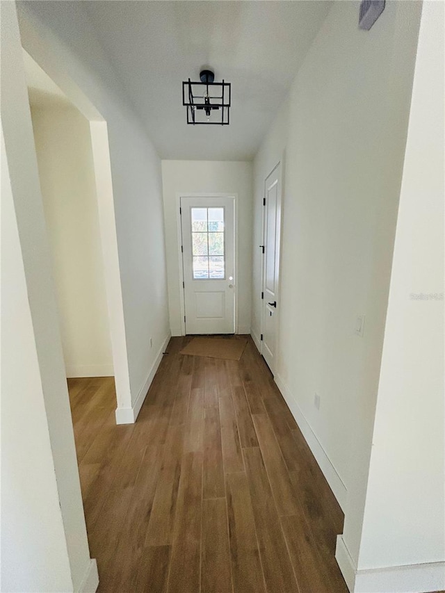
[[[8,347],[1,357],[0,589],[68,591],[70,564],[3,133],[1,148],[1,340]]]

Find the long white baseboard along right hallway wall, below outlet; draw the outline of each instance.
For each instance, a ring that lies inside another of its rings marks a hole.
[[[296,402],[296,399],[292,396],[291,391],[286,386],[280,375],[275,375],[274,380],[278,389],[280,389],[282,396],[286,400],[286,404],[289,406],[293,417],[296,419],[296,423],[298,424],[303,437],[305,437],[310,450],[312,450],[312,454],[314,455],[316,462],[320,466],[321,471],[323,471],[323,475],[325,476],[327,483],[330,485],[335,498],[337,498],[337,501],[341,506],[341,510],[346,512],[347,490],[343,480],[341,480],[330,458],[327,457],[327,453],[323,449],[323,446],[321,446],[320,441],[318,441],[315,432],[311,428],[311,425],[309,425],[309,422],[305,419],[300,406]]]

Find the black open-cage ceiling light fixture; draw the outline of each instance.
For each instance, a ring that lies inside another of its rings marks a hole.
[[[187,123],[228,126],[230,123],[230,83],[214,82],[211,70],[200,72],[200,82],[182,83],[182,104],[187,108]]]

